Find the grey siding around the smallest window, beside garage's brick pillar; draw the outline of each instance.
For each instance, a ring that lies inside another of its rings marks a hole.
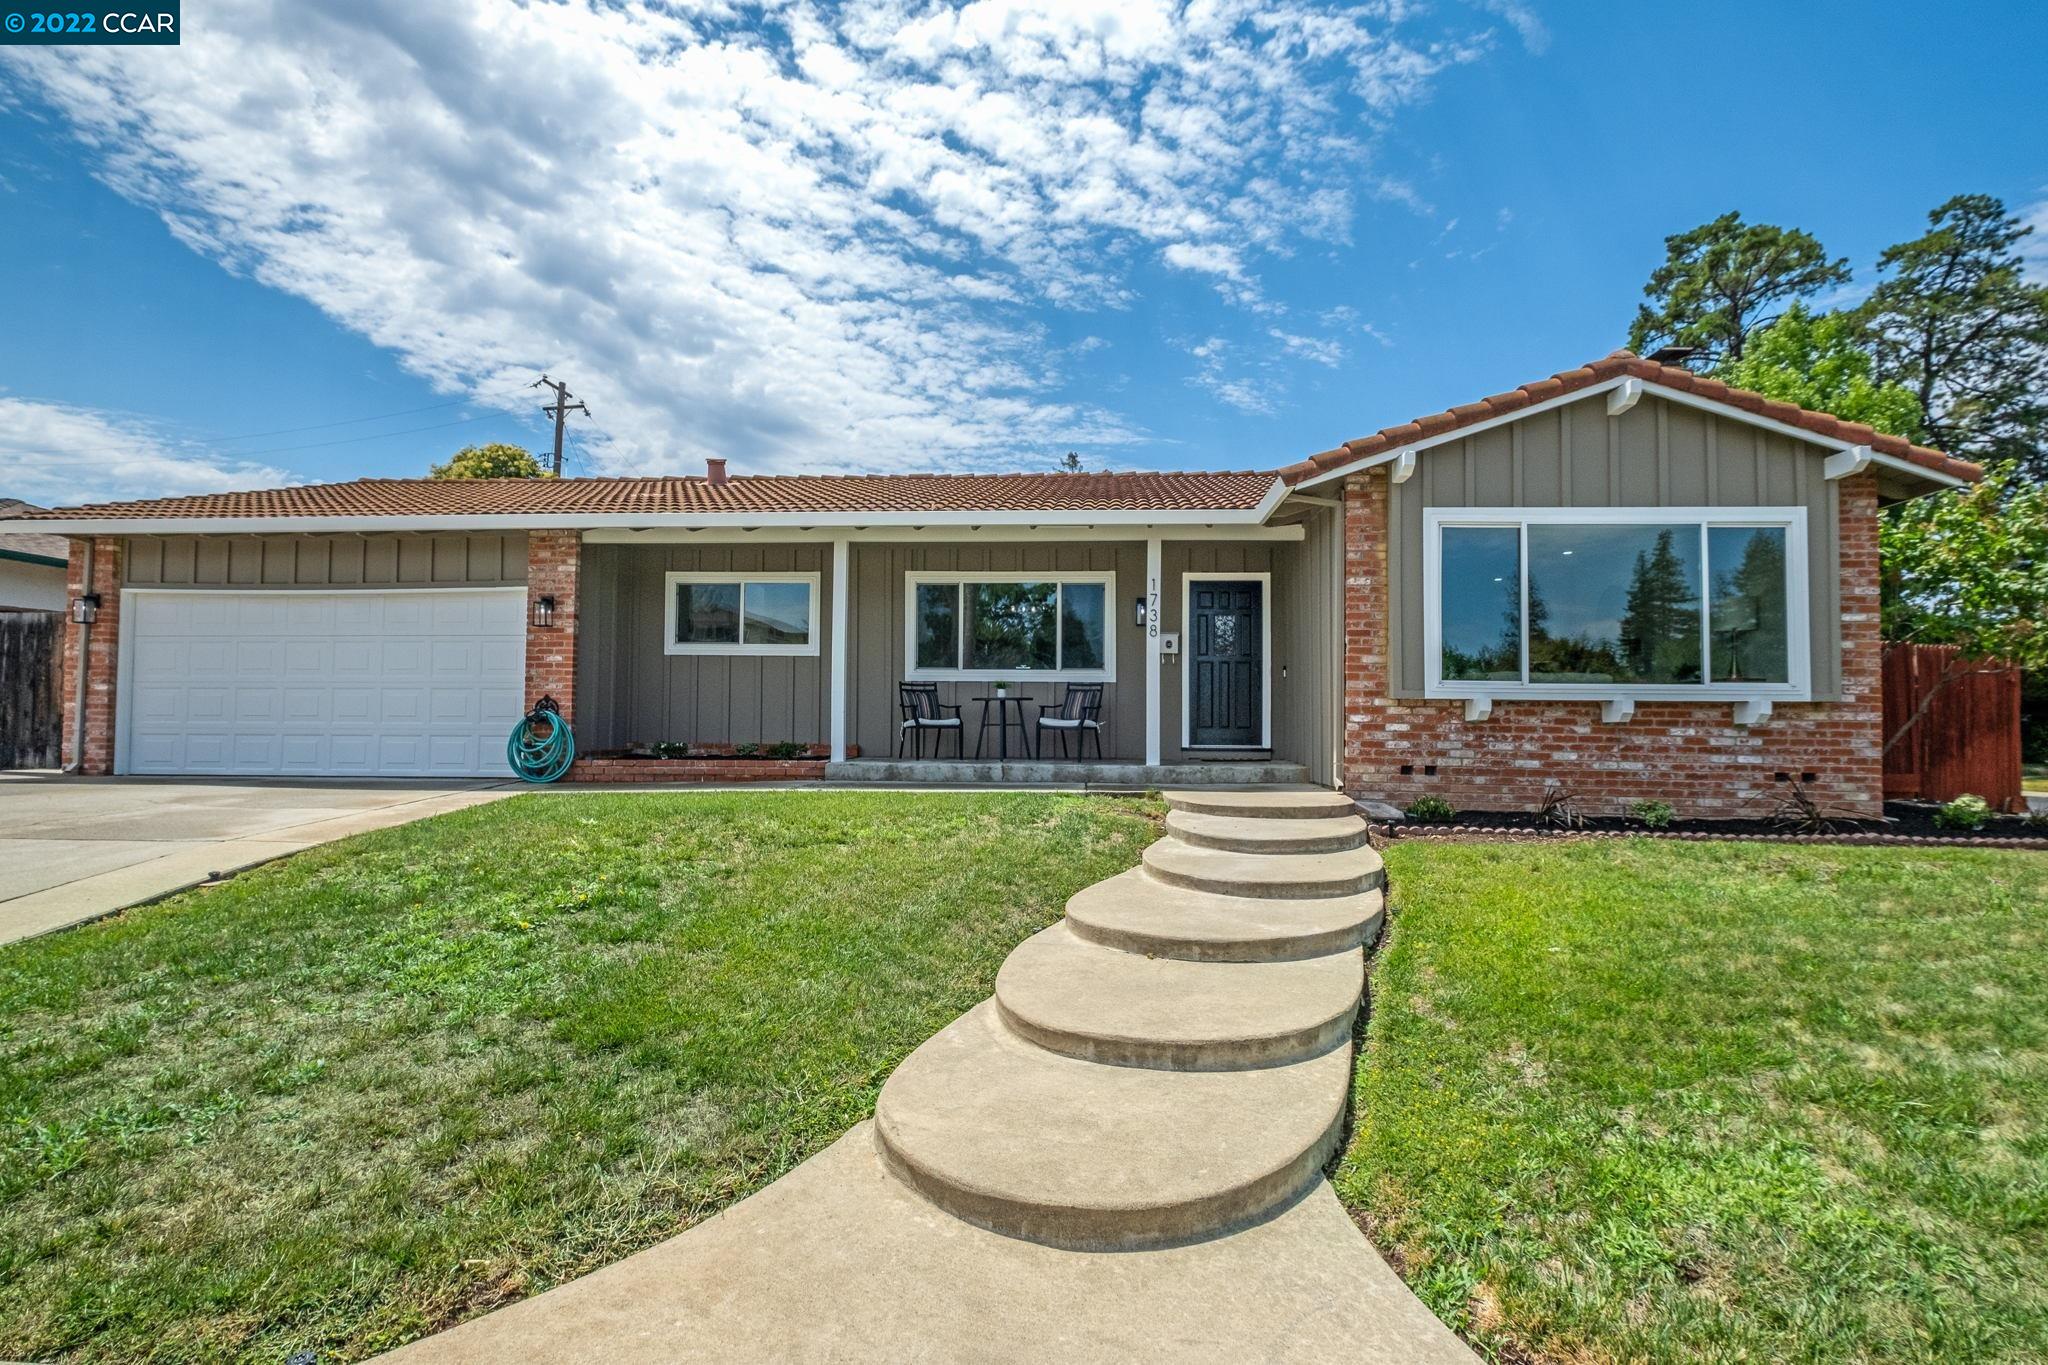
[[[672,655],[670,573],[815,573],[815,655]],[[831,739],[831,546],[584,544],[575,729],[582,749],[662,741],[819,745]]]

